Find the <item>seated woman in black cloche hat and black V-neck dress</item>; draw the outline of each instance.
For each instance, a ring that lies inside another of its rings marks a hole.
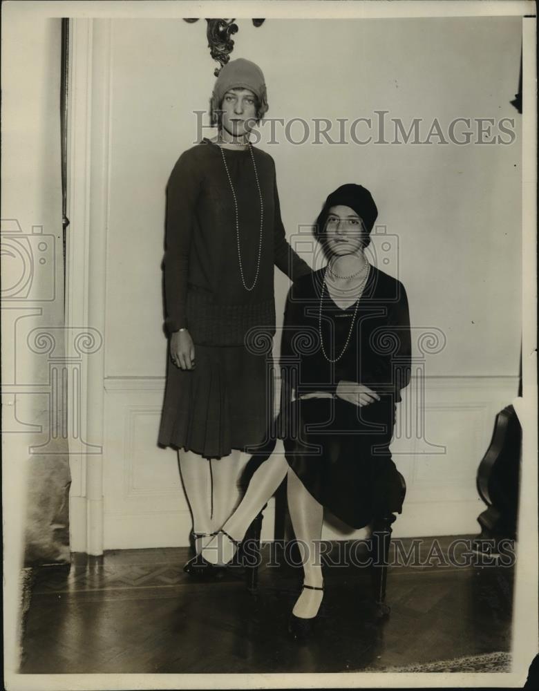
[[[404,286],[364,254],[377,214],[361,185],[332,192],[316,221],[328,265],[287,296],[280,436],[290,518],[306,552],[289,625],[296,638],[312,629],[323,597],[323,507],[353,528],[401,509],[389,444],[410,379],[410,319]]]

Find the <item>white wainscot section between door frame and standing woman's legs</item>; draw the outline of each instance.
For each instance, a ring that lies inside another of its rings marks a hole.
[[[164,379],[107,379],[105,390],[105,549],[188,545],[178,457],[157,444]]]

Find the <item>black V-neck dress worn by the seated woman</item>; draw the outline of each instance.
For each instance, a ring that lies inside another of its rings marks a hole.
[[[321,269],[299,279],[287,296],[278,435],[290,467],[310,494],[337,518],[361,528],[375,515],[401,509],[389,445],[400,390],[410,380],[408,300],[399,281],[371,267],[348,347],[330,363],[319,335],[323,275]],[[343,349],[354,307],[341,310],[324,289],[321,334],[331,359]],[[298,398],[316,390],[334,394],[341,380],[366,384],[381,400],[358,407],[336,396]]]

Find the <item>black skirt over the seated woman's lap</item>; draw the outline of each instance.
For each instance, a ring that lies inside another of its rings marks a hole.
[[[323,507],[352,528],[401,511],[390,452],[392,397],[357,408],[342,399],[294,401],[281,421],[288,464]]]

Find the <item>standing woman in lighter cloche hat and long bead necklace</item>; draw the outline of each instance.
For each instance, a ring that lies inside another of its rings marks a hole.
[[[167,187],[170,359],[158,441],[178,449],[197,552],[234,510],[244,450],[264,442],[272,422],[267,355],[245,336],[275,333],[274,265],[293,280],[311,271],[285,238],[274,161],[249,142],[267,109],[261,69],[226,64],[211,95],[218,134],[180,155]],[[261,464],[251,491],[271,494],[282,464]]]

